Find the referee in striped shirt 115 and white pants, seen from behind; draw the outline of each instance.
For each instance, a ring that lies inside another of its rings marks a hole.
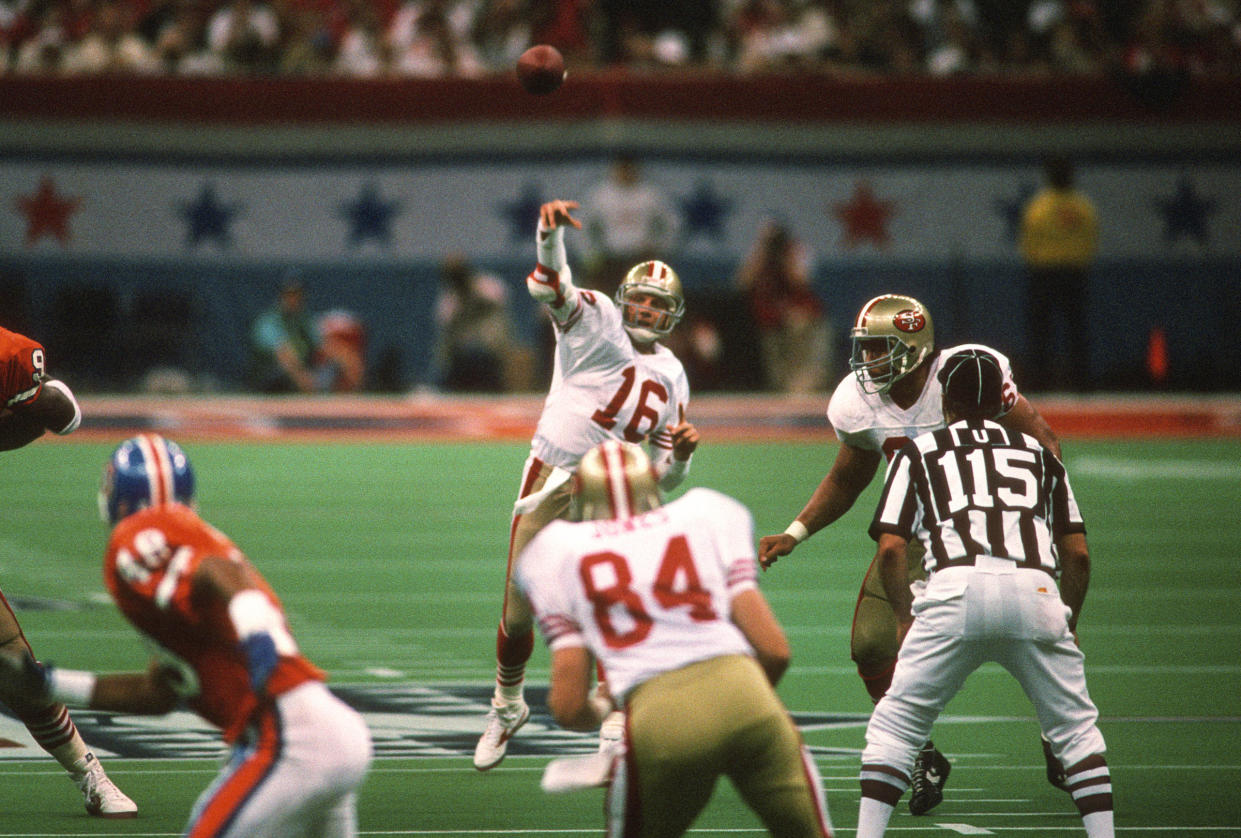
[[[870,526],[907,633],[866,726],[858,838],[881,838],[936,718],[988,660],[1034,704],[1086,834],[1112,838],[1112,777],[1075,636],[1090,551],[1069,475],[1034,437],[992,421],[1006,375],[990,351],[954,351],[936,379],[948,426],[897,452]],[[915,539],[928,574],[917,597],[906,571]]]

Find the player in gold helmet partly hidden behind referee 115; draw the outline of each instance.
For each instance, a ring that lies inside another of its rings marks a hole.
[[[941,387],[936,374],[941,359],[974,346],[963,344],[936,351],[934,325],[922,303],[903,294],[882,294],[862,305],[850,331],[853,375],[836,386],[828,403],[828,421],[840,439],[831,471],[819,483],[792,524],[778,535],[759,539],[763,567],[844,515],[870,484],[880,463],[901,446],[926,431],[944,427]],[[1004,374],[1004,408],[1000,425],[1029,433],[1057,457],[1060,443],[1051,427],[1033,405],[1018,392],[1006,358],[997,356]],[[916,545],[915,545],[916,546]],[[921,554],[910,554],[910,579],[925,579]],[[887,692],[896,667],[901,631],[874,564],[867,569],[854,610],[850,653],[858,664],[867,693],[874,701]],[[1064,768],[1044,740],[1047,778],[1062,787]],[[927,742],[913,767],[910,811],[925,814],[943,800],[943,783],[951,764]]]

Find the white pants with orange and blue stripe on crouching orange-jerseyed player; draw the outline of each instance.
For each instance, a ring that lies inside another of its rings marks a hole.
[[[319,682],[276,699],[194,806],[186,838],[352,838],[371,736]]]

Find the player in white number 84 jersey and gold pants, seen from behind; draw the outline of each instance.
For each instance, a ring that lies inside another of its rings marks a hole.
[[[774,692],[789,649],[757,586],[750,511],[702,488],[661,505],[645,453],[617,439],[582,458],[573,505],[581,520],[544,528],[516,572],[551,648],[556,721],[593,730],[612,709],[591,696],[592,656],[625,708],[607,834],[681,836],[727,776],[771,834],[829,838],[818,771]]]

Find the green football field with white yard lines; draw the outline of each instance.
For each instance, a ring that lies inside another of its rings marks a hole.
[[[536,716],[494,771],[469,755],[482,730],[509,509],[524,443],[185,441],[204,515],[284,600],[303,649],[371,724],[366,836],[602,834],[602,792],[539,790],[553,754],[593,747],[558,731],[530,670]],[[105,529],[94,511],[112,443],[42,441],[0,458],[0,588],[45,660],[117,670],[145,652],[103,595]],[[704,443],[688,485],[710,485],[779,531],[835,454],[831,443]],[[1102,713],[1118,834],[1241,834],[1241,441],[1067,439],[1095,575],[1080,626]],[[872,545],[879,483],[841,521],[762,576],[793,644],[779,693],[814,749],[838,834],[856,821],[858,755],[870,701],[848,657],[853,602]],[[176,836],[216,772],[212,732],[191,714],[123,719],[76,711],[112,777],[139,804],[101,822],[11,720],[0,730],[0,838]],[[985,667],[937,725],[953,762],[931,814],[902,807],[891,834],[1083,834],[1044,780],[1034,714]],[[695,836],[763,834],[727,783]]]

